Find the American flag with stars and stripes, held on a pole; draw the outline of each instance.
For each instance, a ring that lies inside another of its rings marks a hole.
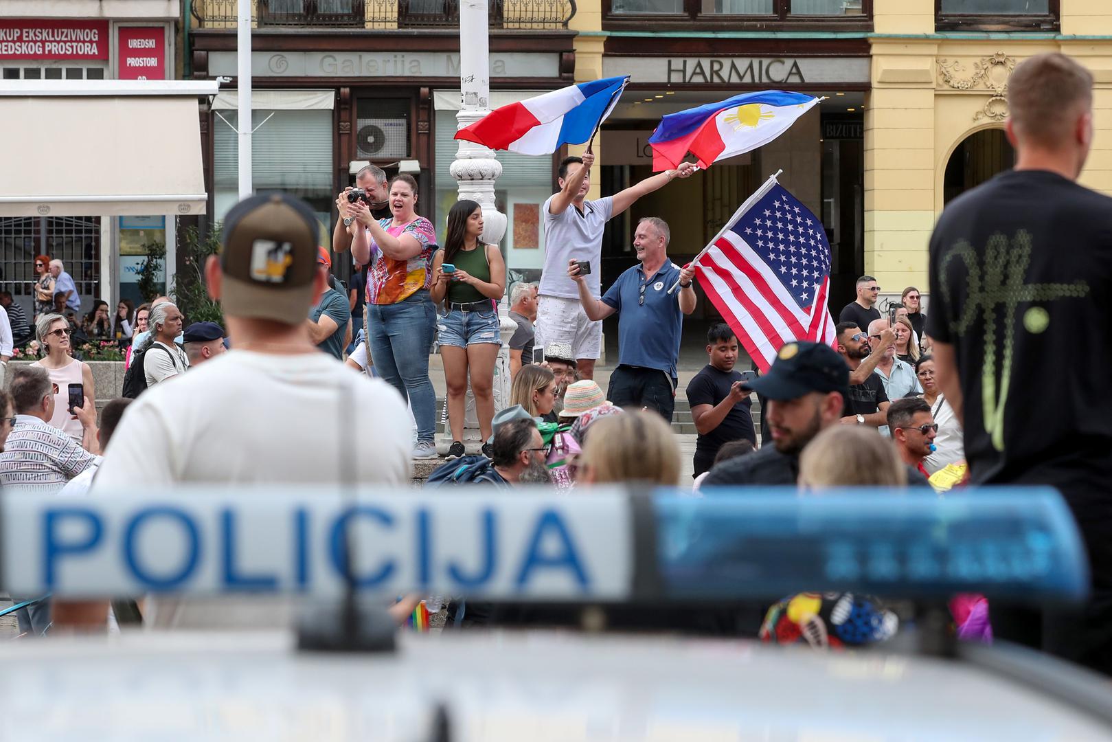
[[[699,285],[763,372],[785,343],[834,342],[830,270],[822,222],[773,178],[695,265]]]

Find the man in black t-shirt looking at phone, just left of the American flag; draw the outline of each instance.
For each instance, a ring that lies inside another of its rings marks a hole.
[[[757,444],[749,413],[749,393],[742,388],[737,363],[737,338],[726,323],[718,323],[706,334],[711,363],[687,384],[687,403],[698,438],[695,442],[695,476],[714,464],[724,443],[745,438]]]

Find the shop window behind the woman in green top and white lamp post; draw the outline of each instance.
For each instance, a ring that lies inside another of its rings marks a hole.
[[[458,93],[456,93],[458,95]],[[456,159],[459,142],[456,135],[456,111],[436,111],[436,234],[444,243],[448,210],[459,200],[456,179],[448,168]],[[506,236],[502,240],[506,266],[533,280],[544,266],[545,199],[553,195],[553,158],[530,157],[516,152],[497,152],[502,176],[495,181],[495,205],[506,215]],[[418,211],[421,211],[418,209]],[[430,219],[434,215],[421,211]]]

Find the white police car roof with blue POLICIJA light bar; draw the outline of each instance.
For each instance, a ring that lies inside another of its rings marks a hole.
[[[1086,567],[1051,491],[7,494],[0,516],[13,594],[292,594],[320,619],[316,636],[9,642],[10,739],[1112,739],[1103,679],[931,636],[927,622],[906,637],[926,653],[825,653],[666,633],[376,633],[359,615],[364,598],[411,591],[583,606],[848,591],[927,613],[973,591],[1070,603],[1085,594]]]

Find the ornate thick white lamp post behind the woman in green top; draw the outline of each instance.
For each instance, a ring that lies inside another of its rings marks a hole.
[[[456,115],[458,129],[475,123],[490,112],[490,52],[489,16],[487,0],[461,0],[459,3],[459,90],[463,107]],[[498,245],[506,234],[506,215],[500,214],[494,202],[494,182],[502,175],[502,162],[495,154],[483,145],[459,140],[456,159],[449,168],[451,177],[459,182],[459,199],[477,201],[483,207],[483,241]],[[507,287],[508,288],[508,287]],[[502,317],[502,350],[494,369],[494,406],[502,409],[509,400],[509,336],[515,324],[508,317],[508,298],[503,297],[498,307]],[[447,405],[446,405],[447,406]],[[444,417],[447,422],[447,416]],[[445,424],[445,439],[451,443],[451,435]],[[479,441],[478,419],[475,416],[475,400],[467,393],[464,444],[474,449]]]

